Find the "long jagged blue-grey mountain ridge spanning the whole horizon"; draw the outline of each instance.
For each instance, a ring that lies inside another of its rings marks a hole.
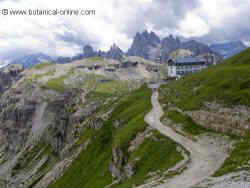
[[[25,68],[41,62],[69,63],[90,57],[103,57],[107,59],[122,60],[125,56],[138,56],[155,62],[165,62],[173,52],[177,50],[190,51],[194,56],[204,54],[214,54],[217,59],[228,58],[240,53],[247,47],[241,41],[207,45],[196,40],[184,40],[179,37],[169,35],[160,39],[154,32],[143,31],[136,33],[133,42],[127,52],[123,52],[120,47],[113,44],[108,51],[97,51],[90,44],[83,46],[82,52],[73,57],[50,57],[43,53],[26,55],[16,58],[9,64],[22,64]],[[5,65],[2,65],[2,67]]]

